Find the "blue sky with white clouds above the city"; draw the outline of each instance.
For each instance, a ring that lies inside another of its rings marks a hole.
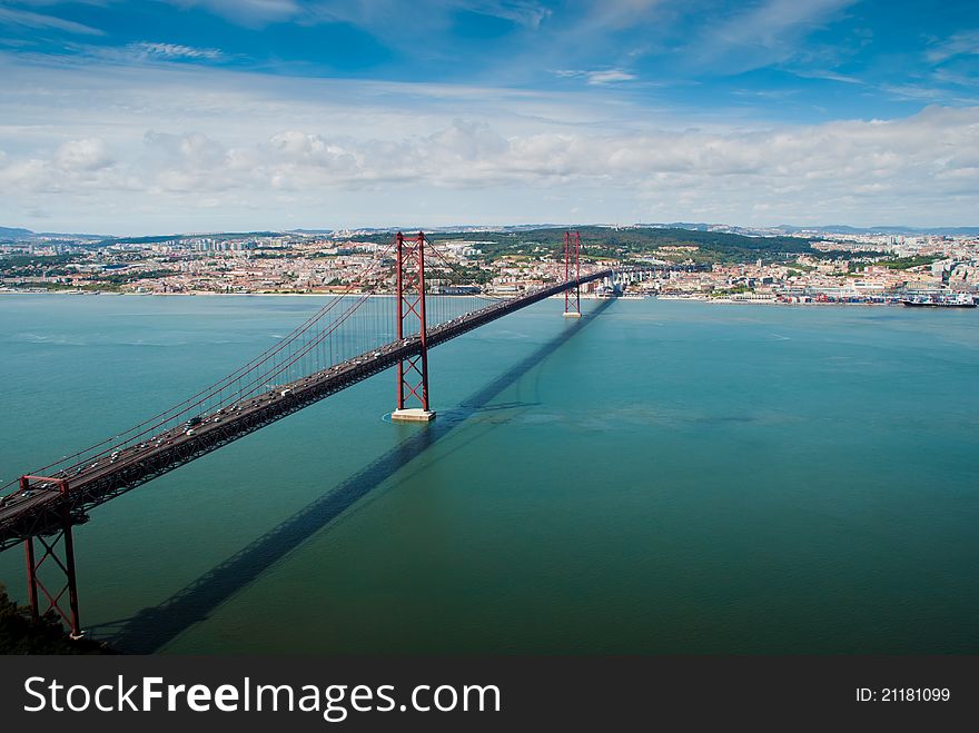
[[[977,211],[975,0],[0,0],[0,226]]]

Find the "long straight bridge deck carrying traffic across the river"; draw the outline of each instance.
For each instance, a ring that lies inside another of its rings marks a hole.
[[[545,286],[518,298],[501,300],[454,318],[428,329],[427,346],[433,348],[444,344],[492,320],[568,290],[576,283],[584,285],[610,275],[610,269],[592,273],[577,281]],[[87,512],[92,507],[384,372],[402,359],[416,355],[419,345],[417,335],[392,341],[296,382],[279,385],[271,392],[246,398],[234,407],[200,415],[201,422],[194,426],[191,435],[187,435],[182,426],[175,427],[147,439],[140,444],[145,446],[142,448],[137,445],[120,450],[115,460],[101,457],[73,475],[56,474],[56,477],[68,479],[66,494],[60,492],[57,484],[46,485],[44,482],[32,479],[29,495],[24,496],[24,492],[18,491],[0,499],[0,551],[29,536],[57,531],[66,508],[71,512],[73,523],[87,522]],[[281,396],[287,388],[291,393]]]

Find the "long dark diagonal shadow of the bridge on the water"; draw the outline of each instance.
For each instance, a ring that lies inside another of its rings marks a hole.
[[[419,426],[411,437],[159,605],[144,608],[123,621],[92,626],[91,631],[100,635],[105,634],[111,645],[126,653],[149,654],[165,646],[181,632],[206,620],[235,593],[249,585],[261,573],[326,527],[466,419],[484,410],[517,406],[513,403],[491,406],[490,402],[561,348],[581,331],[592,317],[600,315],[611,304],[612,300],[602,300],[587,318],[566,324],[558,336],[469,395],[457,408],[439,412],[438,419]]]

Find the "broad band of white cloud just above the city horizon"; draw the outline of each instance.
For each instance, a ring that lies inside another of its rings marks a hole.
[[[969,224],[979,210],[979,107],[690,128],[612,102],[607,89],[185,67],[0,71],[11,80],[0,119],[6,226],[29,226],[32,210],[57,212],[46,229],[103,231],[572,218]],[[51,99],[72,113],[52,117]]]

